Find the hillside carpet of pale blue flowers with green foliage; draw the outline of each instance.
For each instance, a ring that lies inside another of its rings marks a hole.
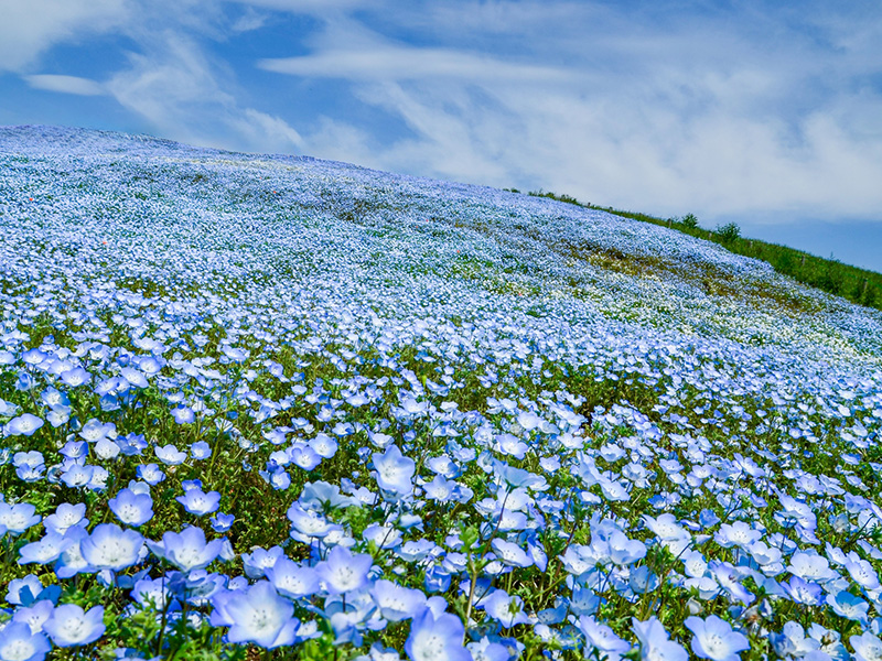
[[[882,659],[882,315],[666,228],[0,129],[0,661]]]

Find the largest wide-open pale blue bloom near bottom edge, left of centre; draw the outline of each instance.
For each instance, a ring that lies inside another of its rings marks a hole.
[[[230,642],[252,642],[265,649],[293,644],[300,620],[294,606],[260,581],[241,590],[222,590],[212,598],[211,624],[229,627]]]

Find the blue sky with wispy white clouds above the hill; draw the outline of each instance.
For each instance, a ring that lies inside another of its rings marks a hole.
[[[695,213],[882,271],[875,0],[0,0],[0,124]]]

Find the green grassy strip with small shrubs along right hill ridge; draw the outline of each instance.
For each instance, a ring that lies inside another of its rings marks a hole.
[[[738,254],[768,262],[778,273],[789,275],[809,286],[842,296],[859,305],[882,310],[882,273],[852,267],[833,258],[826,259],[810,254],[787,246],[742,237],[741,228],[736,223],[727,223],[711,230],[700,227],[698,218],[693,214],[686,214],[679,218],[659,218],[647,214],[584,204],[570,195],[558,195],[545,191],[531,191],[528,195],[548,197],[587,208],[605,210],[623,218],[675,228],[690,236],[720,243]]]

